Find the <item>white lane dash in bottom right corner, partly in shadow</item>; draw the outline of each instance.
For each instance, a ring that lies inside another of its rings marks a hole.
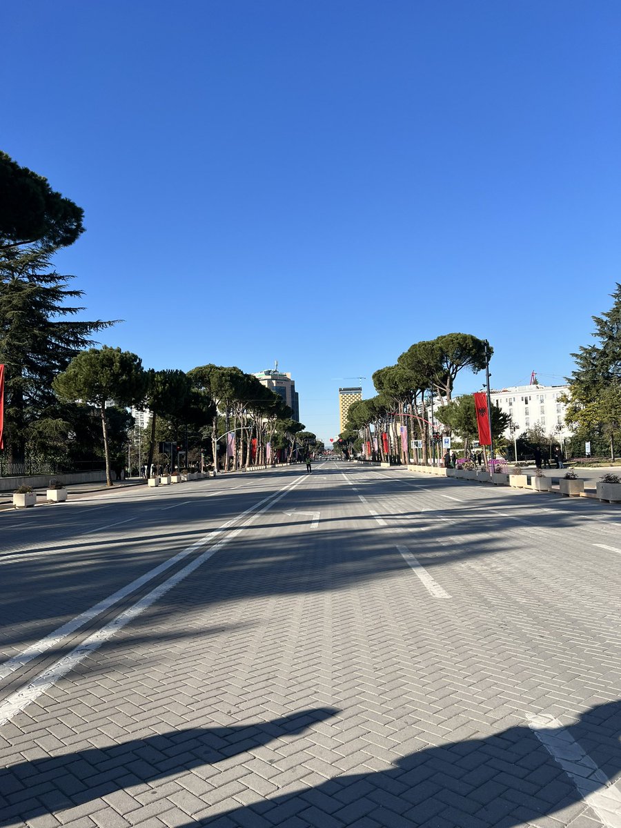
[[[552,758],[577,787],[586,805],[593,808],[605,828],[621,825],[621,791],[575,741],[554,716],[527,715],[530,728]]]

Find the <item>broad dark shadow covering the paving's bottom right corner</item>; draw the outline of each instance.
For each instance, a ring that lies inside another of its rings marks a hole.
[[[574,806],[575,813],[563,817],[565,824],[587,805],[602,802],[604,818],[607,807],[614,814],[605,824],[616,826],[621,824],[621,792],[609,783],[621,772],[620,733],[621,702],[615,701],[567,727],[516,726],[486,739],[423,749],[385,771],[337,776],[314,788],[219,810],[180,828],[344,828],[363,825],[366,817],[373,826],[513,828]],[[593,793],[601,794],[599,800],[585,803]],[[601,812],[594,818],[603,821]]]

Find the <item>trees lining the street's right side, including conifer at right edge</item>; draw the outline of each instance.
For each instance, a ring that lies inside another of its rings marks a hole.
[[[621,285],[611,294],[614,303],[601,316],[593,316],[597,344],[580,347],[571,354],[576,363],[569,379],[569,392],[564,397],[566,424],[574,434],[566,442],[571,456],[584,455],[590,442],[596,456],[608,454],[615,458],[615,445],[621,440]],[[440,454],[438,442],[443,435],[462,441],[462,450],[469,454],[478,437],[474,397],[463,394],[452,397],[455,378],[469,369],[478,373],[485,368],[493,349],[483,339],[470,334],[446,334],[424,342],[416,342],[397,359],[395,365],[379,368],[373,373],[377,396],[354,402],[349,408],[345,431],[335,445],[337,453],[360,454],[363,445],[371,446],[373,460],[407,462],[412,440],[421,442],[414,448],[414,462],[426,465],[431,453]],[[433,402],[434,410],[431,412]],[[431,419],[442,425],[431,430]],[[514,433],[511,416],[498,407],[491,407],[491,428],[494,446],[501,451],[508,447],[503,432]],[[407,429],[407,449],[402,447],[400,429]],[[388,451],[383,445],[386,435]],[[531,455],[535,446],[551,452],[556,434],[544,433],[533,426],[516,435],[517,459],[520,453]],[[416,444],[415,444],[416,445]]]

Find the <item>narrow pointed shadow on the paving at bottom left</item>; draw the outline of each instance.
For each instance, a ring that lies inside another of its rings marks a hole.
[[[62,811],[141,782],[176,773],[301,734],[337,715],[332,707],[298,710],[270,722],[186,728],[147,739],[34,759],[0,770],[0,826]]]

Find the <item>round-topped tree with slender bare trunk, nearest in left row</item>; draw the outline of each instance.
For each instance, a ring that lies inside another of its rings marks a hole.
[[[91,348],[71,360],[65,372],[54,380],[54,390],[68,402],[90,402],[99,410],[106,460],[106,482],[112,486],[106,403],[141,405],[148,387],[147,372],[136,354],[120,348]]]

